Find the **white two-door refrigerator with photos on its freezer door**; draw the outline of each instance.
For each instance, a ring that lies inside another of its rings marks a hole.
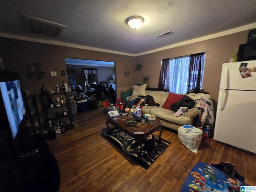
[[[256,60],[222,65],[213,138],[256,153]]]

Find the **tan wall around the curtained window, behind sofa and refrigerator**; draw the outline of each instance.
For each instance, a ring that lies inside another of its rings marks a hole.
[[[142,62],[143,68],[136,72],[135,83],[142,83],[142,76],[146,73],[150,74],[150,87],[158,87],[161,59],[205,51],[203,89],[217,101],[222,64],[229,62],[240,44],[246,43],[248,32],[249,30],[138,56],[136,63]]]

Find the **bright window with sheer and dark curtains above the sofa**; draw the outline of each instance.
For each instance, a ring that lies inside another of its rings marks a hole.
[[[202,89],[205,53],[162,60],[158,88],[185,94],[194,88]]]

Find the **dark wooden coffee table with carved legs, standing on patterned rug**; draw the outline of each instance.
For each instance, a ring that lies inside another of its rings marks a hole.
[[[142,125],[142,122],[138,122],[134,126],[126,126],[125,122],[127,120],[134,120],[134,118],[129,119],[127,115],[113,118],[107,117],[106,126],[108,128],[108,132],[110,131],[109,125],[111,124],[126,134],[132,136],[136,142],[135,148],[138,158],[140,158],[142,152],[142,144],[144,143],[146,137],[148,137],[150,134],[153,134],[157,130],[160,130],[159,140],[161,140],[161,135],[163,132],[163,128],[161,126],[162,123],[158,118],[156,118],[154,122],[145,122],[144,125]]]

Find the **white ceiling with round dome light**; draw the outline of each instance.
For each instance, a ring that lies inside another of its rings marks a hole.
[[[28,34],[22,14],[66,29],[60,38]],[[139,30],[125,23],[133,15],[145,19]],[[1,36],[134,55],[241,26],[256,28],[256,0],[1,0],[0,18]],[[167,31],[173,34],[157,37]]]

